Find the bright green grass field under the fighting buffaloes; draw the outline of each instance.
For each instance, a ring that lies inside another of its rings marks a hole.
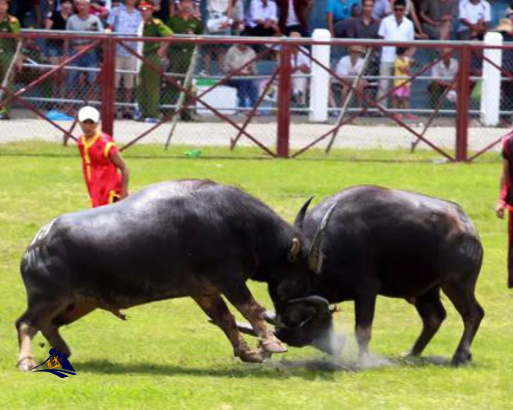
[[[19,373],[14,321],[26,308],[19,261],[43,223],[65,212],[86,209],[89,200],[76,148],[43,143],[2,145],[1,408],[511,407],[513,292],[506,288],[506,222],[494,214],[501,168],[498,155],[471,165],[440,165],[337,161],[333,157],[263,161],[250,158],[254,154],[250,150],[248,158],[233,159],[227,150],[208,148],[203,158],[184,159],[179,158],[181,147],[173,150],[163,153],[161,147],[135,147],[127,151],[130,189],[162,180],[207,177],[244,188],[290,222],[309,195],[315,195],[315,204],[360,183],[415,190],[460,203],[476,223],[485,249],[477,286],[485,318],[472,345],[472,364],[452,368],[399,361],[356,373],[330,371],[320,365],[328,362],[327,357],[310,347],[290,348],[264,364],[245,364],[232,357],[223,333],[207,323],[192,300],[175,299],[127,310],[126,322],[96,311],[63,327],[76,376],[58,379],[47,373]],[[245,152],[238,151],[238,155]],[[209,158],[212,155],[218,158]],[[348,156],[358,158],[359,153]],[[379,151],[371,156],[392,159],[391,154]],[[255,297],[270,307],[265,286],[249,285]],[[445,296],[443,303],[448,316],[426,356],[450,358],[461,337],[459,315]],[[347,333],[353,345],[353,303],[342,303],[340,308],[337,329]],[[411,347],[420,329],[413,306],[404,300],[379,298],[371,350],[379,357],[397,358]],[[33,341],[38,362],[48,354],[48,344],[40,345],[43,341],[40,334]]]

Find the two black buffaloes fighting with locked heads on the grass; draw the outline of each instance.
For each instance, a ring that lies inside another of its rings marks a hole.
[[[41,331],[69,357],[58,332],[93,310],[189,296],[221,327],[243,361],[261,362],[291,346],[315,345],[332,329],[330,304],[354,300],[365,355],[378,295],[413,303],[420,355],[445,318],[442,290],[464,331],[453,364],[470,360],[484,316],[475,298],[483,249],[455,203],[417,193],[358,186],[325,198],[293,225],[262,201],[210,180],[149,186],[109,206],[62,215],[43,227],[21,263],[28,308],[16,321],[18,367],[34,365]],[[265,282],[274,330],[246,281]],[[224,296],[249,321],[257,348],[242,337]]]

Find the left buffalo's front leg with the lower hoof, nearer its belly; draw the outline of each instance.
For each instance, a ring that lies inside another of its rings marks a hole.
[[[259,363],[263,358],[259,352],[251,350],[235,324],[235,318],[228,310],[228,306],[221,296],[201,296],[193,298],[200,308],[221,327],[233,346],[233,354],[242,361]]]

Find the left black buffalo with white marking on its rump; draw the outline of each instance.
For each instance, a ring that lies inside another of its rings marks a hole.
[[[61,325],[97,308],[124,319],[120,309],[184,296],[221,327],[243,361],[285,352],[246,280],[267,282],[277,311],[284,298],[308,294],[321,230],[316,238],[307,248],[300,230],[263,202],[209,180],[156,183],[109,206],[57,217],[21,262],[28,308],[15,323],[18,367],[34,366],[37,331],[69,356]],[[221,295],[251,323],[258,350],[248,347]]]

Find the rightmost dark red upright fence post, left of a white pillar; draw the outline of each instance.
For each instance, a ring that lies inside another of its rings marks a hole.
[[[456,115],[456,160],[467,160],[468,145],[468,97],[470,94],[470,46],[459,47],[458,70],[458,113]]]

